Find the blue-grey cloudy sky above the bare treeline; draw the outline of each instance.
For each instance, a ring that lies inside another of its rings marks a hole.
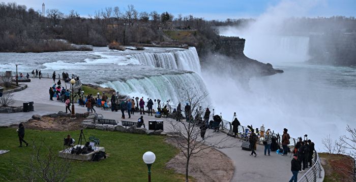
[[[162,13],[168,11],[174,16],[178,14],[194,15],[204,19],[226,18],[255,18],[263,14],[271,7],[275,7],[281,2],[291,0],[16,0],[0,2],[16,2],[20,5],[26,5],[27,8],[42,11],[42,3],[45,3],[46,10],[59,9],[65,14],[70,10],[77,11],[80,16],[94,15],[96,10],[105,9],[105,7],[118,6],[122,11],[127,5],[134,5],[138,12],[157,11]],[[356,0],[294,0],[300,2],[311,2],[312,7],[308,7],[306,14],[301,16],[356,16]]]

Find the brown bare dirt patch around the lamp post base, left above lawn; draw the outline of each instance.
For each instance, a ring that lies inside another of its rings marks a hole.
[[[29,120],[23,123],[26,129],[35,130],[53,130],[53,131],[69,131],[78,130],[85,118],[77,118],[71,120],[69,117],[42,117],[41,120]]]

